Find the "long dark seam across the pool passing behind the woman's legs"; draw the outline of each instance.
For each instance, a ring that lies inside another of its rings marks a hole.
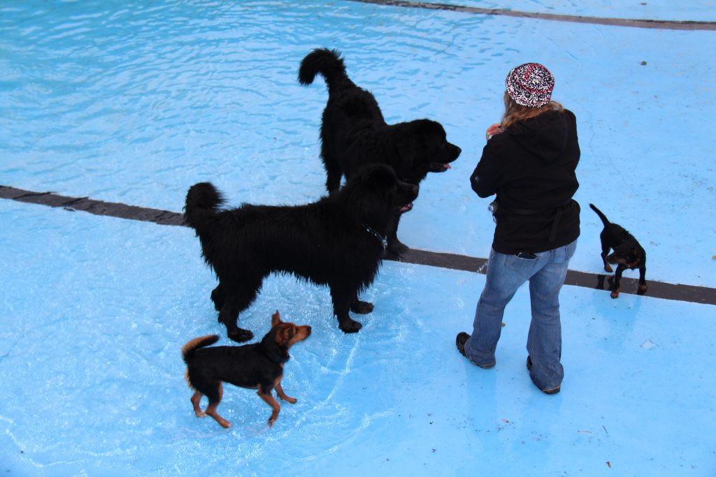
[[[141,220],[142,222],[153,222],[159,225],[186,226],[184,215],[179,212],[148,209],[146,207],[137,207],[135,205],[126,205],[117,202],[104,202],[102,200],[89,199],[88,197],[67,197],[53,194],[52,192],[32,192],[0,185],[0,199],[48,205],[49,207],[62,207],[64,210],[71,212],[80,210],[94,215]],[[485,264],[487,263],[487,259],[485,258],[468,257],[466,255],[445,252],[430,252],[428,250],[418,250],[415,248],[408,250],[398,258],[386,257],[386,260],[483,274],[485,273]],[[594,288],[596,290],[609,290],[611,280],[611,275],[569,270],[564,284]],[[649,280],[648,283],[649,290],[647,291],[647,295],[649,297],[716,305],[716,288],[655,282],[652,280]],[[637,295],[638,285],[639,280],[636,278],[622,277],[621,292],[629,295]]]

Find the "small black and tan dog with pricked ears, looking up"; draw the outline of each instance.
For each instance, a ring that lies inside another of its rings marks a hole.
[[[216,343],[219,337],[207,335],[190,340],[183,346],[182,355],[187,365],[186,381],[195,391],[191,403],[196,417],[211,415],[222,427],[231,426],[229,421],[216,412],[223,395],[222,383],[226,382],[241,388],[258,389],[258,397],[271,406],[269,426],[273,426],[279,418],[281,406],[271,391],[275,388],[279,398],[291,404],[296,403],[296,398],[284,393],[281,378],[284,377],[284,363],[289,360],[289,348],[309,335],[310,326],[284,323],[279,310],[276,310],[271,315],[271,330],[260,343],[204,348]],[[209,399],[205,412],[199,407],[202,395]]]

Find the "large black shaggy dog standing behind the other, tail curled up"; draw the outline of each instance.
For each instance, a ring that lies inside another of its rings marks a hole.
[[[321,74],[328,87],[328,103],[321,122],[321,159],[326,169],[326,190],[336,192],[341,178],[350,178],[369,162],[389,164],[398,177],[420,185],[428,172],[445,172],[461,149],[445,139],[439,122],[416,119],[387,124],[373,95],[357,87],[346,74],[337,50],[314,49],[301,62],[299,82],[311,84]],[[407,247],[398,240],[400,214],[388,230],[388,250],[395,254]]]

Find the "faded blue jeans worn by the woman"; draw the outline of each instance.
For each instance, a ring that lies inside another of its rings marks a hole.
[[[575,240],[569,245],[537,253],[534,259],[505,255],[495,250],[490,252],[487,281],[475,310],[473,333],[465,342],[465,353],[473,363],[482,366],[495,363],[505,306],[517,289],[529,280],[532,305],[527,338],[527,352],[532,360],[530,377],[542,390],[556,388],[562,383],[559,290],[576,243]]]

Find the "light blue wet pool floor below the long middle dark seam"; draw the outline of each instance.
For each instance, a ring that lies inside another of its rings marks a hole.
[[[384,265],[357,335],[327,290],[266,282],[242,323],[314,327],[284,405],[226,388],[225,431],[194,417],[180,346],[222,333],[211,274],[183,227],[0,202],[0,470],[19,475],[694,475],[716,471],[713,307],[566,287],[566,378],[547,396],[524,367],[528,297],[505,315],[498,364],[454,348],[483,275]],[[40,280],[42,277],[42,280]],[[226,338],[221,343],[228,343]]]

